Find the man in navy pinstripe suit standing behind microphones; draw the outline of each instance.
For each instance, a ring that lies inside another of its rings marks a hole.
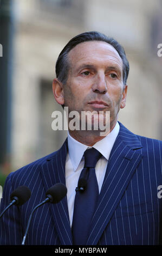
[[[128,72],[124,49],[101,33],[77,35],[64,47],[56,63],[55,99],[68,113],[77,111],[80,122],[82,112],[96,111],[87,118],[92,130],[69,129],[60,150],[8,176],[1,211],[19,186],[28,186],[31,197],[1,218],[2,245],[21,244],[31,210],[58,182],[67,186],[67,197],[35,211],[26,245],[160,243],[161,142],[134,135],[117,121],[126,104]],[[101,136],[93,128],[100,121],[107,125],[107,112],[109,131]],[[77,185],[79,180],[85,183]]]

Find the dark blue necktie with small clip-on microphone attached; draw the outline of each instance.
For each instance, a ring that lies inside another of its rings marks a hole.
[[[94,148],[90,148],[85,151],[84,156],[85,165],[79,180],[86,179],[87,185],[85,191],[76,191],[75,195],[72,223],[73,245],[86,245],[90,223],[99,196],[95,165],[100,159],[101,153]]]

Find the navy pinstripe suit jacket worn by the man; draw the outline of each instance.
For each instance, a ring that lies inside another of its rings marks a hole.
[[[134,135],[121,123],[100,192],[87,245],[158,245],[161,240],[161,141]],[[1,212],[10,193],[28,186],[31,198],[1,218],[1,245],[21,245],[31,210],[57,182],[65,184],[67,140],[61,149],[9,174]],[[45,204],[33,216],[26,245],[72,245],[67,198]]]

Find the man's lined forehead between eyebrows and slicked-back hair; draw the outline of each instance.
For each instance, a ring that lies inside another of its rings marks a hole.
[[[73,68],[90,63],[103,65],[117,65],[122,69],[122,59],[115,48],[103,41],[87,41],[76,45],[68,54]]]

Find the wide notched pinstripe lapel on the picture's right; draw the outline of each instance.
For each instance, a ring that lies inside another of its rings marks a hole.
[[[120,124],[119,135],[107,164],[105,179],[91,223],[87,245],[96,245],[103,234],[135,169],[141,161],[142,155],[137,150],[141,147],[137,136]]]

